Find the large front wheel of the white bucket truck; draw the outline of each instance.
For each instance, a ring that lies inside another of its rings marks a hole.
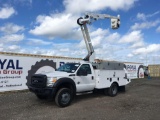
[[[70,105],[73,95],[70,89],[61,88],[55,97],[55,102],[59,107],[67,107]]]

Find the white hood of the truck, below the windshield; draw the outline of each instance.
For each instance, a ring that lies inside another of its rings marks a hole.
[[[67,77],[72,73],[67,73],[67,72],[61,72],[61,71],[54,71],[50,73],[45,73],[47,77]]]

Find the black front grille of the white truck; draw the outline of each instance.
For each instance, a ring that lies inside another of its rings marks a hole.
[[[33,87],[46,87],[47,76],[42,74],[35,74],[31,77],[31,84]]]

